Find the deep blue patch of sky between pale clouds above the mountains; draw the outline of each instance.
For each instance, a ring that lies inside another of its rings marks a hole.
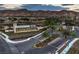
[[[61,6],[54,6],[54,5],[42,5],[42,4],[27,4],[21,6],[23,9],[28,9],[31,11],[36,10],[44,10],[44,11],[59,11],[59,10],[65,10],[66,8],[63,8]]]

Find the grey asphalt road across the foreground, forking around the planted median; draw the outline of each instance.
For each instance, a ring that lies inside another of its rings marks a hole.
[[[39,38],[40,37],[37,37],[36,39],[33,38],[30,41],[18,44],[7,43],[0,38],[0,54],[54,54],[58,47],[64,43],[64,40],[60,39],[44,48],[33,48],[33,45],[40,40]]]

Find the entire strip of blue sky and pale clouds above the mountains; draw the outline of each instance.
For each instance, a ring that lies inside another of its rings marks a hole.
[[[0,10],[72,10],[79,12],[79,4],[0,4]]]

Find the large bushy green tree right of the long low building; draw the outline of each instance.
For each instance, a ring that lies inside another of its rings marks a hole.
[[[55,30],[59,26],[59,19],[56,17],[46,18],[44,25]]]

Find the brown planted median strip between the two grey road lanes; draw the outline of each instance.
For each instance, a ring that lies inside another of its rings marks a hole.
[[[34,48],[44,48],[48,45],[48,43],[50,43],[51,41],[53,41],[54,39],[56,39],[57,37],[59,37],[58,34],[53,34],[49,37],[47,37],[46,39],[44,39],[43,41],[40,41],[36,44],[34,44]]]

